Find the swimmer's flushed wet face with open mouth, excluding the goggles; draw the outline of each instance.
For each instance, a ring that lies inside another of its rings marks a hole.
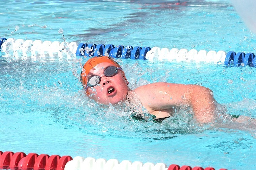
[[[104,75],[104,70],[109,66],[114,65],[108,62],[99,63],[87,75],[87,80],[93,75],[101,77],[100,83],[94,87],[88,87],[88,90],[92,94],[92,98],[102,104],[116,104],[119,101],[124,101],[129,91],[129,83],[119,70],[113,77]]]

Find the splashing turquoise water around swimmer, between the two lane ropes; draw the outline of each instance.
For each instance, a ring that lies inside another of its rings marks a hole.
[[[199,127],[188,111],[162,123],[136,121],[119,107],[101,106],[85,96],[77,60],[6,60],[0,62],[1,150],[215,168],[254,166],[256,131],[246,123],[221,119],[213,127]],[[214,91],[227,114],[256,117],[255,68],[120,61],[132,89],[157,81],[200,84]]]

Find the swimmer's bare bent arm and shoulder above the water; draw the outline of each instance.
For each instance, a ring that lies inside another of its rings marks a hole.
[[[134,90],[143,106],[151,113],[160,115],[177,106],[190,106],[200,123],[214,120],[214,98],[211,90],[198,85],[152,83]]]

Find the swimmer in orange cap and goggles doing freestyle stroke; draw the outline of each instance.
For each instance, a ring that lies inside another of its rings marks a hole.
[[[120,65],[107,56],[90,58],[80,79],[86,94],[96,102],[113,105],[127,101],[141,103],[159,121],[172,116],[174,108],[183,106],[192,108],[198,123],[211,123],[216,117],[216,101],[209,88],[158,82],[131,90]]]

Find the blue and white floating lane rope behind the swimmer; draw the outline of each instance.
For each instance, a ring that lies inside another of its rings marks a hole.
[[[177,49],[159,47],[133,47],[113,44],[87,44],[76,42],[58,42],[41,40],[22,40],[13,38],[0,38],[0,50],[5,53],[4,57],[14,58],[74,58],[107,55],[113,58],[130,58],[142,60],[160,61],[187,61],[187,62],[208,62],[224,64],[228,67],[256,67],[254,53],[229,51],[206,51],[195,49]]]

